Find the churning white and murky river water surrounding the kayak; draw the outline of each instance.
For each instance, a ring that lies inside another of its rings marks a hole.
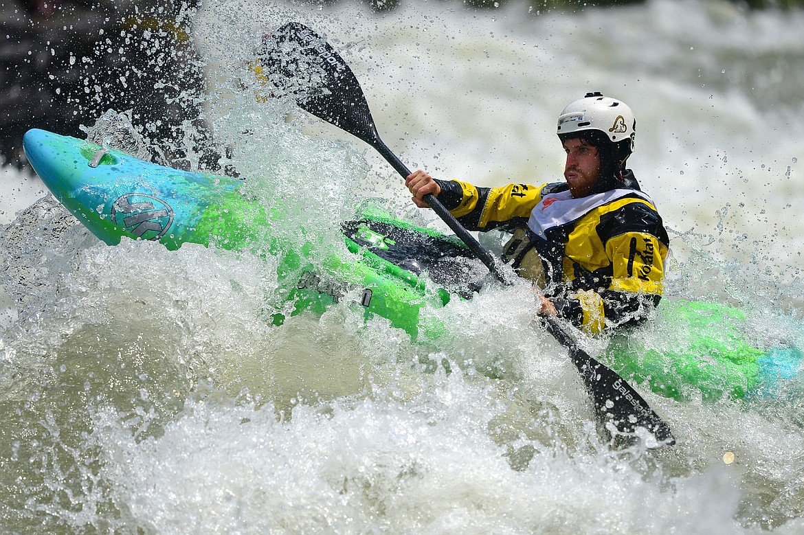
[[[277,234],[337,248],[365,204],[443,227],[359,141],[253,98],[249,51],[293,19],[342,52],[384,141],[441,178],[557,180],[560,109],[625,100],[630,166],[671,233],[667,299],[735,305],[755,345],[804,347],[801,11],[207,6],[193,35],[216,139],[282,207]],[[35,180],[5,180],[3,533],[804,533],[800,394],[639,389],[678,443],[614,450],[522,285],[428,311],[453,326],[433,343],[347,300],[275,327],[273,259],[107,247],[34,204]],[[674,329],[634,336],[670,346]]]

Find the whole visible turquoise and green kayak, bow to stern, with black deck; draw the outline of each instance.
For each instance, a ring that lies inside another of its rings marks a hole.
[[[272,227],[279,216],[248,198],[242,180],[170,169],[39,129],[26,133],[23,146],[55,198],[109,245],[128,237],[169,249],[199,243],[276,257],[277,325],[287,310],[321,314],[348,295],[367,320],[385,318],[413,339],[436,340],[447,327],[423,321],[422,308],[470,298],[479,288],[467,278],[479,262],[456,238],[388,215],[343,223],[348,252],[318,258],[305,252],[314,247],[277,241]],[[723,304],[662,300],[657,323],[671,325],[676,338],[617,335],[601,361],[626,380],[679,400],[772,397],[798,377],[802,352],[754,347],[742,335],[743,320],[743,312]]]

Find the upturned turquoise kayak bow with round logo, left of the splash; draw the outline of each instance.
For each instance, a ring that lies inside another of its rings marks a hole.
[[[171,169],[40,129],[25,134],[23,148],[54,197],[109,245],[128,236],[176,249],[185,242],[207,245],[213,234],[265,227],[235,221],[247,211],[236,209],[246,202],[236,178]],[[237,237],[245,243],[252,233]]]

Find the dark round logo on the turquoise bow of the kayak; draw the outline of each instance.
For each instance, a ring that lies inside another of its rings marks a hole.
[[[160,198],[125,194],[112,205],[112,221],[139,239],[158,240],[173,223],[173,209]]]

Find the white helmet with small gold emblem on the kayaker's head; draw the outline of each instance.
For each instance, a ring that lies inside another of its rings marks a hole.
[[[584,98],[564,108],[558,117],[558,135],[562,140],[569,137],[567,134],[597,130],[626,154],[634,150],[636,126],[631,108],[601,92],[586,93]],[[626,140],[629,140],[627,144],[622,143]]]

